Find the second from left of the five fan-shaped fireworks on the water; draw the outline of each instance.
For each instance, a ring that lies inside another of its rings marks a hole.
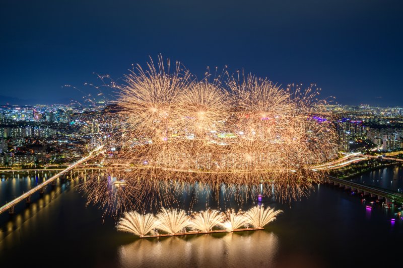
[[[158,229],[168,234],[184,232],[189,224],[189,217],[184,210],[162,208],[157,218]]]

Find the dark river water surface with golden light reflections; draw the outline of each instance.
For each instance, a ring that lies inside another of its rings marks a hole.
[[[401,184],[401,167],[381,176]],[[394,177],[397,178],[394,180]],[[400,173],[399,173],[400,172]],[[46,174],[49,177],[50,174]],[[365,177],[365,174],[363,175]],[[379,176],[379,175],[377,175]],[[27,191],[45,174],[3,174],[0,202]],[[364,178],[363,177],[363,178]],[[359,178],[358,178],[359,180]],[[139,239],[114,229],[116,220],[86,206],[78,180],[57,181],[16,214],[0,215],[2,267],[390,267],[402,266],[399,209],[330,185],[289,204],[263,198],[284,214],[263,231]],[[196,204],[197,205],[197,204]],[[246,204],[245,209],[252,204]],[[391,221],[391,219],[395,221]]]

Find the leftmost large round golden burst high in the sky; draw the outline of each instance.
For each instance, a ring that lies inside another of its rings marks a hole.
[[[155,139],[155,142],[171,134],[171,119],[175,116],[173,106],[187,87],[190,73],[182,72],[178,62],[172,73],[170,67],[170,61],[165,65],[161,57],[158,67],[153,61],[147,70],[138,65],[138,73],[132,71],[126,75],[127,84],[119,87],[120,115],[137,137]]]

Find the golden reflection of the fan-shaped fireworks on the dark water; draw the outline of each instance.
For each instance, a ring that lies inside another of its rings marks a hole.
[[[266,231],[137,239],[118,256],[121,267],[261,267],[273,266],[278,244]]]

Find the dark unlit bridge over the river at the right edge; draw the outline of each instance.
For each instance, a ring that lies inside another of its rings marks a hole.
[[[324,181],[331,182],[336,186],[339,185],[340,187],[344,187],[345,189],[351,189],[352,191],[357,191],[357,193],[364,193],[364,195],[371,195],[371,197],[376,197],[377,199],[385,199],[386,203],[392,201],[403,204],[403,194],[396,191],[383,189],[376,186],[354,183],[333,176],[326,176]]]

